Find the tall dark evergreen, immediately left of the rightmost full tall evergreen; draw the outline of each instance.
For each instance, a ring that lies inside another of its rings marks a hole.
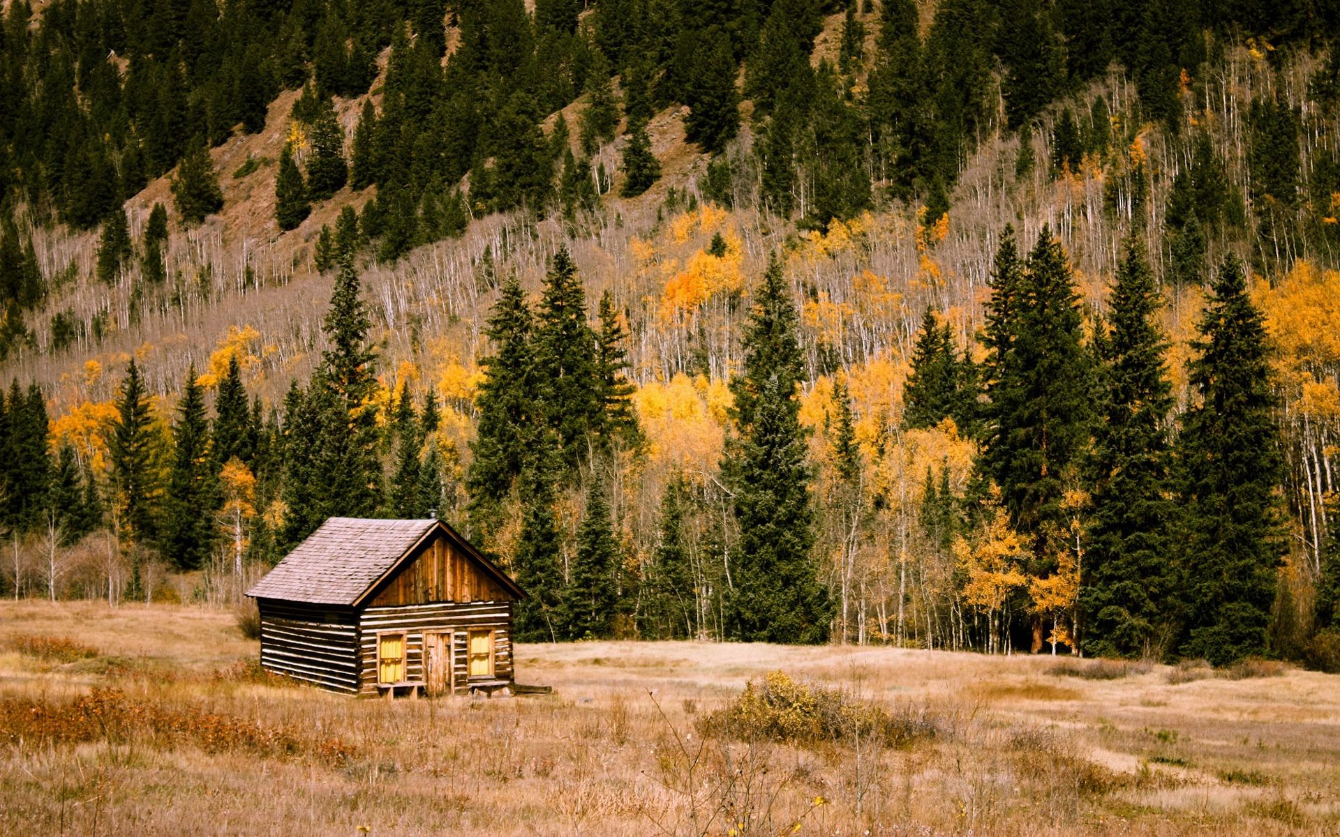
[[[1172,387],[1159,296],[1144,253],[1127,242],[1101,343],[1103,421],[1093,442],[1093,524],[1081,566],[1083,648],[1096,656],[1171,651],[1177,595],[1167,423]]]

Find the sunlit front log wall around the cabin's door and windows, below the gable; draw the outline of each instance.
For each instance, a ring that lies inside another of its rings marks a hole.
[[[423,632],[456,631],[456,647],[452,654],[456,663],[456,684],[457,688],[466,688],[470,683],[466,631],[472,628],[494,631],[493,676],[482,680],[488,683],[512,680],[511,601],[367,608],[359,620],[362,660],[358,676],[359,694],[377,694],[377,633],[381,631],[405,632],[405,679],[413,682],[425,680]]]

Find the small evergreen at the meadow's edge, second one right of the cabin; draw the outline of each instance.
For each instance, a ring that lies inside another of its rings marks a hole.
[[[571,639],[608,639],[618,604],[615,573],[620,566],[604,486],[598,481],[587,494],[578,528],[572,579],[563,592],[563,621]]]

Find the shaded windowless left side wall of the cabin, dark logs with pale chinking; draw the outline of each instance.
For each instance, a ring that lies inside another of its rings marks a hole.
[[[358,691],[358,615],[352,608],[257,599],[260,664],[342,692]]]

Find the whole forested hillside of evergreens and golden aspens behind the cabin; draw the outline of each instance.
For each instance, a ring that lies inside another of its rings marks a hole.
[[[1337,31],[11,3],[3,589],[438,513],[529,639],[1340,667]]]

